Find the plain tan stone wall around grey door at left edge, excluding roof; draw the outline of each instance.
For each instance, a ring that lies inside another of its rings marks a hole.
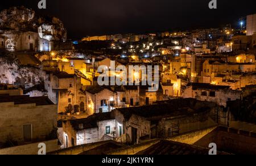
[[[24,143],[23,125],[32,125],[32,140],[45,140],[57,126],[57,106],[36,106],[35,104],[14,105],[0,103],[0,142],[6,142],[7,136]]]

